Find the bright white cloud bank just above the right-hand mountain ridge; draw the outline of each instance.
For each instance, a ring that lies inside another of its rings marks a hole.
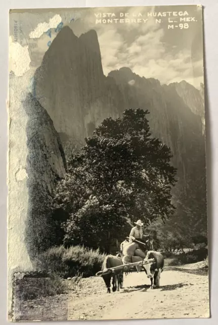
[[[162,40],[164,30],[156,23],[150,24],[146,31],[145,26],[137,26],[139,37],[128,46],[117,29],[103,29],[99,43],[104,73],[128,67],[141,77],[155,78],[162,84],[186,80],[199,88],[203,82],[202,60],[193,61],[191,49],[168,50]]]

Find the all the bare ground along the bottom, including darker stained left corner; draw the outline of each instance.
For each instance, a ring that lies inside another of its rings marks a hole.
[[[22,303],[17,320],[91,320],[209,317],[208,274],[203,262],[166,267],[160,288],[151,290],[145,272],[124,276],[124,286],[107,294],[101,277],[68,280],[69,293]]]

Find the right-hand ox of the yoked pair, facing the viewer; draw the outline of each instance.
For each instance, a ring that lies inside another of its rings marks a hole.
[[[147,252],[145,260],[154,258],[155,262],[143,265],[147,277],[151,279],[151,289],[160,286],[160,273],[163,271],[164,258],[160,252],[150,250]],[[154,281],[153,281],[154,279]]]

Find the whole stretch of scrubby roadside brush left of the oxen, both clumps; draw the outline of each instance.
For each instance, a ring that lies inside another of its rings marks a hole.
[[[95,275],[102,266],[105,254],[83,246],[53,247],[35,257],[35,272],[17,276],[15,295],[20,301],[64,294],[76,286],[81,277]]]

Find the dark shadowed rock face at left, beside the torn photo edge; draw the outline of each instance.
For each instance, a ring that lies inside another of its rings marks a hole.
[[[52,198],[58,179],[65,177],[66,161],[59,135],[47,111],[27,95],[23,103],[28,115],[27,187],[28,213],[25,240],[30,257],[51,246],[55,236],[51,216]]]

